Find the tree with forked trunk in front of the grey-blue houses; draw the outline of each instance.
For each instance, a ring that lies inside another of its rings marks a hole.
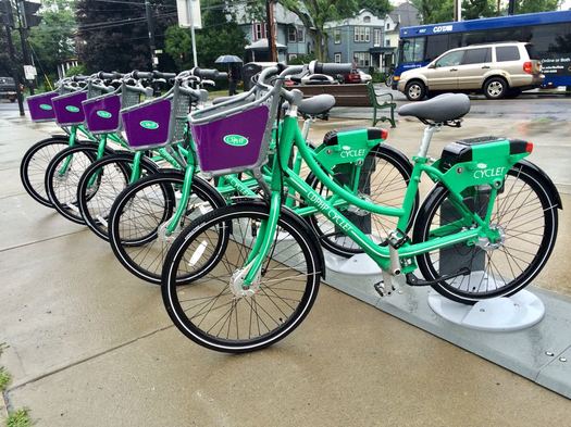
[[[325,23],[353,15],[359,10],[357,0],[278,0],[295,13],[303,23],[306,30],[315,40],[315,56],[327,59],[327,34]]]

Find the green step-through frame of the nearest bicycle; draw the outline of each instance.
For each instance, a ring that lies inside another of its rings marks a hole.
[[[282,127],[282,138],[278,143],[280,155],[274,156],[273,176],[271,180],[271,204],[269,219],[261,224],[259,235],[252,247],[252,250],[245,263],[245,268],[248,269],[244,278],[244,287],[251,285],[260,271],[264,260],[266,259],[270,248],[273,244],[276,233],[280,211],[282,209],[283,184],[293,188],[299,193],[308,204],[310,204],[316,212],[325,215],[332,221],[343,234],[350,237],[363,251],[375,261],[375,263],[385,272],[398,275],[400,273],[411,273],[417,266],[413,258],[415,255],[426,253],[436,249],[443,249],[452,244],[466,242],[473,246],[479,238],[487,238],[491,241],[499,239],[498,231],[489,227],[489,221],[493,214],[493,206],[496,200],[498,190],[501,188],[504,178],[519,160],[529,155],[529,152],[512,154],[501,152],[498,148],[496,159],[491,160],[492,169],[501,171],[497,176],[485,177],[484,173],[477,174],[473,171],[482,171],[482,164],[475,162],[461,164],[459,167],[454,167],[447,172],[440,171],[438,162],[434,165],[429,164],[426,151],[430,145],[430,138],[434,128],[429,127],[425,130],[419,155],[413,158],[414,166],[410,183],[407,187],[405,200],[401,208],[382,206],[371,203],[367,200],[360,199],[353,193],[347,191],[345,188],[335,183],[316,162],[314,154],[307,147],[301,137],[297,121],[295,117],[288,115],[284,118]],[[313,190],[307,183],[291,171],[287,164],[287,159],[293,150],[293,147],[299,150],[299,153],[309,168],[315,174],[318,179],[324,184],[331,191],[333,191],[339,199],[356,205],[362,210],[371,213],[377,213],[388,216],[398,217],[398,230],[406,229],[410,216],[412,214],[413,201],[415,194],[419,192],[419,184],[422,174],[429,176],[433,183],[440,183],[450,192],[450,201],[454,206],[462,215],[462,227],[460,231],[447,234],[450,230],[457,230],[458,225],[447,224],[432,231],[431,237],[423,242],[410,243],[405,241],[398,249],[390,244],[380,246],[373,239],[363,234],[357,228],[346,216],[344,216],[331,202],[323,199],[315,190]],[[499,146],[498,146],[499,147]],[[286,161],[284,161],[286,159]],[[282,161],[281,164],[278,163]],[[472,164],[474,163],[474,164]],[[485,171],[488,171],[488,165],[484,164]],[[481,176],[482,175],[482,176]],[[492,174],[488,174],[492,175]],[[491,193],[488,206],[485,217],[481,217],[477,213],[472,212],[464,203],[462,191],[476,186],[489,185]],[[396,255],[396,258],[395,258]],[[397,264],[397,265],[395,265]]]

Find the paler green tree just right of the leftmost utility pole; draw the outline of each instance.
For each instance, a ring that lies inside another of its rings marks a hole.
[[[55,74],[58,64],[76,55],[74,8],[72,1],[45,0],[41,23],[29,30],[29,43],[45,73]]]

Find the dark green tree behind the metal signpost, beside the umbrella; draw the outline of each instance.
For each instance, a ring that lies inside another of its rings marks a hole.
[[[202,28],[196,30],[198,64],[214,66],[221,54],[244,56],[247,43],[244,30],[231,18],[225,7],[218,8],[220,0],[202,1]],[[178,70],[193,66],[193,45],[190,30],[172,25],[166,29],[164,48],[175,61]]]

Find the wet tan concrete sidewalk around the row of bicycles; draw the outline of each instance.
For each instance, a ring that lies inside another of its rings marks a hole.
[[[476,122],[443,130],[434,155],[460,133],[545,134]],[[318,124],[312,135],[337,125]],[[401,122],[390,140],[412,154],[419,129]],[[548,172],[560,188],[571,183],[560,160],[566,129],[536,142],[535,160],[558,160]],[[568,424],[567,399],[327,286],[303,325],[273,348],[231,356],[194,344],[171,325],[157,287],[25,193],[20,159],[48,130],[0,117],[0,342],[10,346],[0,364],[13,375],[9,406],[29,407],[37,426]],[[567,215],[566,236],[569,223]],[[569,292],[566,247],[558,242],[539,286]]]

